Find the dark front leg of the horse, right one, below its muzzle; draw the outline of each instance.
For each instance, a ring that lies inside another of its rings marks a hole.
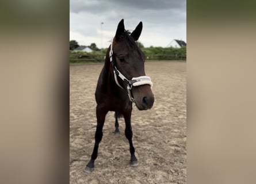
[[[131,153],[131,166],[137,166],[139,162],[135,156],[135,148],[132,144],[132,125],[131,125],[131,114],[132,110],[124,113],[124,121],[125,121],[125,136],[127,137],[130,144],[130,153]]]

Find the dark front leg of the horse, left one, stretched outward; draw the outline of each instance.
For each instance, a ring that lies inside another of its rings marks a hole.
[[[106,113],[108,113],[108,112],[101,110],[97,106],[97,108],[96,108],[97,128],[96,128],[96,132],[95,132],[95,144],[94,144],[94,148],[93,148],[93,154],[91,154],[90,162],[85,167],[86,173],[91,173],[91,171],[93,171],[94,161],[98,156],[98,146],[99,146],[100,141],[103,136],[102,129],[103,129]]]

